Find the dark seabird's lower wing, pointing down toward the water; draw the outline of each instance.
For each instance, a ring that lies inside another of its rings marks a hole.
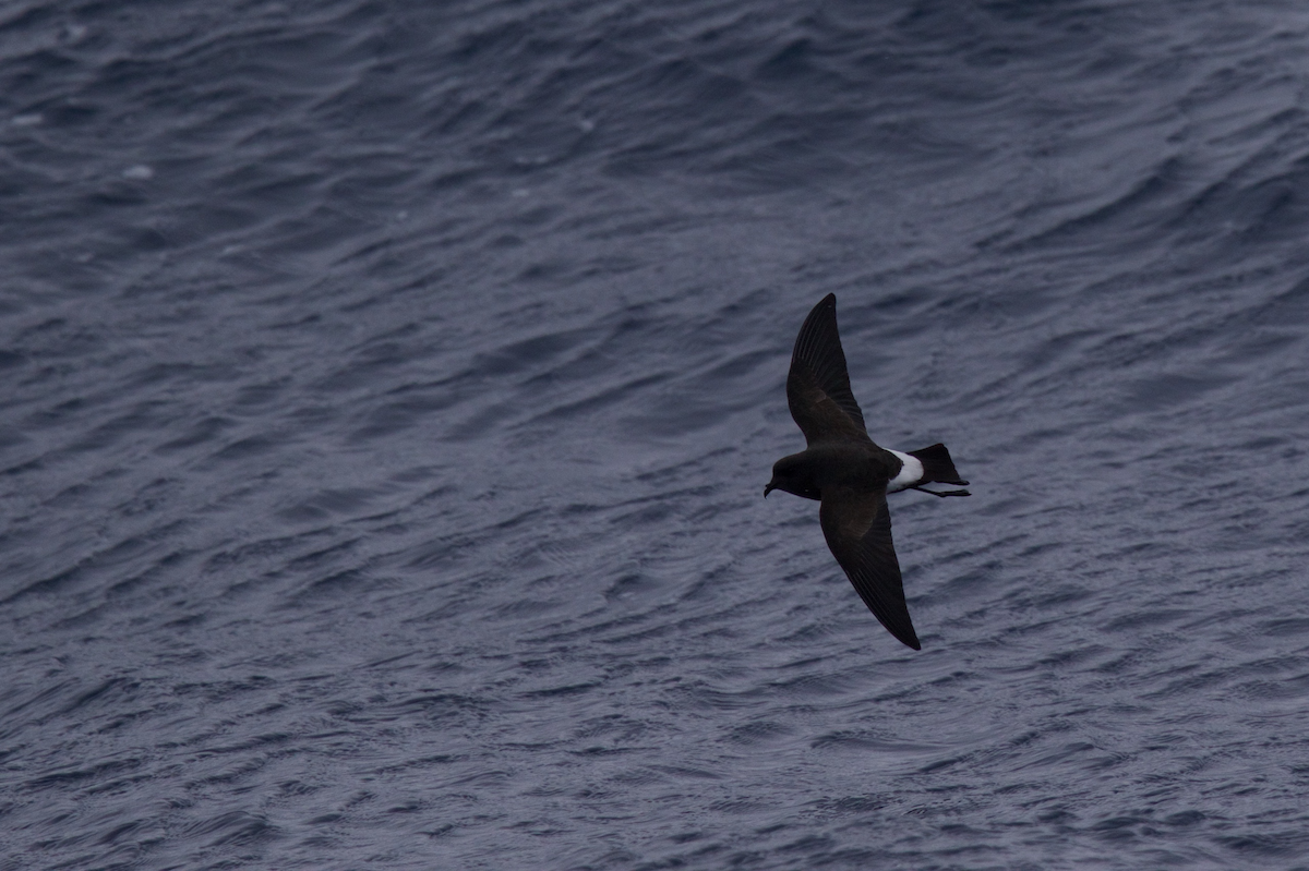
[[[859,598],[893,636],[922,650],[905,604],[905,582],[891,544],[886,488],[825,490],[818,517],[827,547],[855,585]]]

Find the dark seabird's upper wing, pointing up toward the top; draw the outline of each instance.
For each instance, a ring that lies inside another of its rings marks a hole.
[[[869,441],[864,413],[850,391],[846,353],[836,332],[836,294],[813,307],[791,353],[787,404],[809,445],[834,439]]]

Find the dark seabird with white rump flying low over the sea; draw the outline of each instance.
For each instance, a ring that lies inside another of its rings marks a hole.
[[[835,293],[823,297],[800,327],[787,375],[787,404],[808,447],[774,463],[763,496],[785,490],[822,502],[818,519],[823,538],[864,604],[899,641],[922,650],[905,604],[886,494],[911,489],[969,496],[963,489],[923,487],[967,481],[954,471],[945,445],[902,454],[878,447],[868,437],[864,413],[850,391]]]

